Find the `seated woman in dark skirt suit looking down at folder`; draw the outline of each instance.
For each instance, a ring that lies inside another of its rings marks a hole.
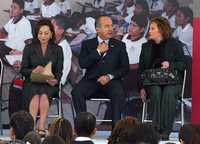
[[[51,97],[58,96],[59,82],[62,76],[63,52],[62,48],[54,43],[55,32],[51,21],[40,20],[35,29],[35,38],[32,44],[27,45],[23,52],[21,73],[25,76],[24,98],[29,112],[36,120],[39,112],[39,134],[45,134],[45,121]],[[53,79],[45,83],[31,81],[31,73],[44,72],[44,66],[52,63]]]

